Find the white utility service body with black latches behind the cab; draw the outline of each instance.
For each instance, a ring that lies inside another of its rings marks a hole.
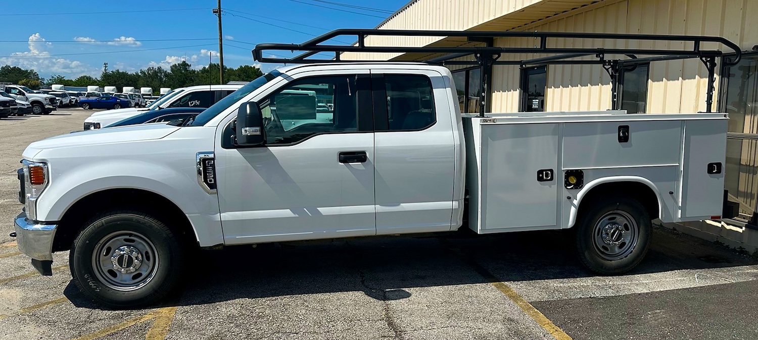
[[[727,120],[625,111],[467,115],[468,226],[482,234],[570,228],[581,199],[609,182],[650,188],[662,222],[719,218],[724,173],[708,166],[725,162]],[[628,142],[619,142],[619,126],[628,126]],[[564,186],[571,170],[583,173],[577,189]]]

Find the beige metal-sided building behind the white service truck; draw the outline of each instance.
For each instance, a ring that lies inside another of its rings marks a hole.
[[[758,245],[758,0],[412,0],[377,29],[515,30],[543,32],[651,33],[722,36],[744,51],[724,67],[717,60],[713,111],[730,114],[726,186],[741,204],[728,223],[705,221],[694,233],[732,245]],[[374,36],[366,45],[468,46],[465,38]],[[537,39],[498,38],[493,45],[536,47]],[[683,42],[621,42],[554,39],[548,47],[688,48]],[[703,49],[727,50],[703,43]],[[343,59],[421,60],[434,55],[343,53]],[[522,59],[541,55],[522,55]],[[472,57],[463,59],[473,60]],[[589,57],[591,58],[591,57]],[[477,112],[478,67],[454,67],[462,112]],[[620,106],[629,112],[685,113],[706,110],[708,72],[697,59],[641,64],[622,72]],[[612,108],[611,79],[599,65],[496,65],[487,94],[492,112],[597,111]],[[705,232],[705,233],[703,233]]]

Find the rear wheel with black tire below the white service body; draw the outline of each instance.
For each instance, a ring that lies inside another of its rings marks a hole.
[[[585,204],[590,205],[580,213],[575,225],[581,264],[602,275],[625,273],[640,264],[652,232],[652,220],[643,205],[624,197],[606,197]]]

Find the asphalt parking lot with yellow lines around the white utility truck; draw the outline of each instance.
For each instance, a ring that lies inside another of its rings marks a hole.
[[[42,277],[8,236],[23,148],[92,112],[0,120],[0,339],[758,338],[758,260],[666,229],[623,276],[579,267],[568,232],[240,246],[202,253],[164,304],[103,309],[67,253]]]

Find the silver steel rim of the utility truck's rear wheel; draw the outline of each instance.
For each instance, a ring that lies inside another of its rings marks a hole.
[[[619,260],[634,251],[639,239],[637,222],[625,211],[609,211],[592,230],[595,250],[606,260]]]

